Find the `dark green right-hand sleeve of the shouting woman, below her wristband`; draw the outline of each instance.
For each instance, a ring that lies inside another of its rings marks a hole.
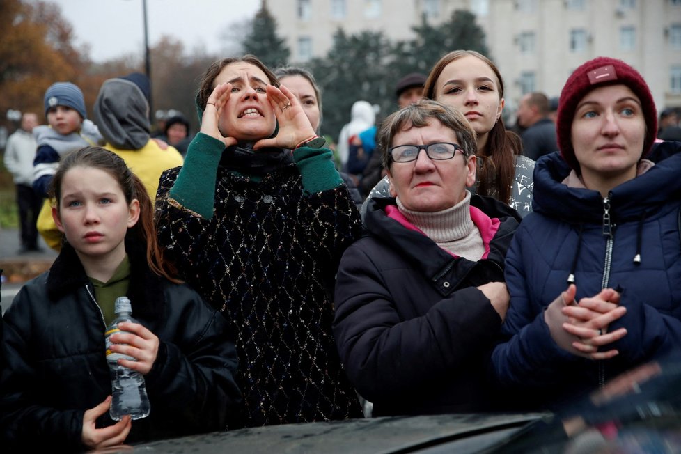
[[[328,148],[300,147],[293,152],[307,194],[336,189],[343,184]]]

